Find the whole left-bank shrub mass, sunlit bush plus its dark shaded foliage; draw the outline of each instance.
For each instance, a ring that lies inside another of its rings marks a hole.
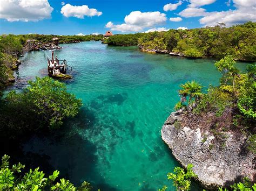
[[[11,91],[0,104],[0,135],[16,138],[47,126],[59,127],[63,119],[78,114],[82,102],[66,91],[64,83],[47,76],[29,81],[21,93]]]

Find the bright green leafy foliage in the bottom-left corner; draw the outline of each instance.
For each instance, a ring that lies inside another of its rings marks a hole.
[[[43,171],[39,171],[39,167],[24,173],[22,169],[25,168],[25,165],[18,163],[10,167],[9,159],[8,155],[2,157],[0,190],[92,190],[92,186],[86,181],[78,188],[64,178],[57,182],[59,171],[54,171],[48,178],[45,177]]]

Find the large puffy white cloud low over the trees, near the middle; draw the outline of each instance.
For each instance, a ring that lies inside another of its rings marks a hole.
[[[164,13],[160,13],[159,11],[132,11],[129,15],[126,15],[124,19],[125,23],[120,25],[114,25],[112,22],[109,22],[106,24],[106,27],[110,28],[113,31],[139,32],[145,29],[146,27],[164,24],[166,20],[166,15]]]

